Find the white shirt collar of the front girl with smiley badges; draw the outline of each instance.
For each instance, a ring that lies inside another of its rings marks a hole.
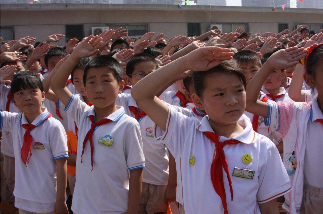
[[[233,139],[246,144],[254,143],[256,133],[252,128],[251,122],[247,121],[246,119],[240,118],[238,123],[245,128],[240,134],[238,134],[237,136],[234,136]],[[209,123],[208,116],[203,117],[201,124],[197,126],[197,129],[202,132],[204,131],[214,132]],[[221,136],[220,141],[226,141],[226,140],[229,140],[229,138]]]

